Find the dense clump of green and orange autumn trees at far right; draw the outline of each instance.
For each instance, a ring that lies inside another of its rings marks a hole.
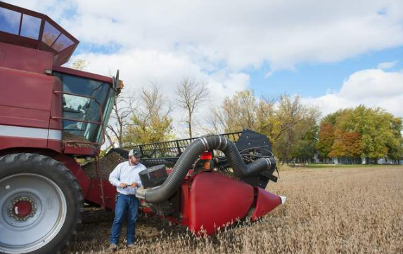
[[[403,157],[402,142],[402,118],[360,105],[324,117],[316,148],[324,159],[376,163],[385,158],[397,163]]]

